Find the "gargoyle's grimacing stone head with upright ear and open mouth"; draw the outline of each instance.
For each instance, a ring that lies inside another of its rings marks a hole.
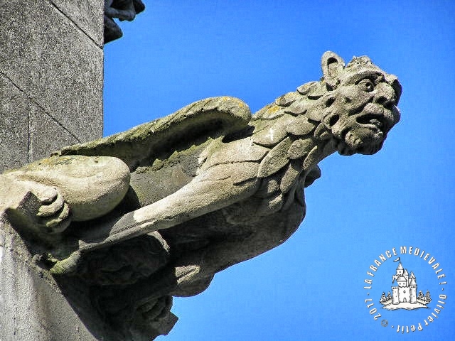
[[[348,65],[336,53],[322,56],[323,80],[328,93],[322,122],[336,140],[341,155],[374,154],[400,120],[397,108],[401,85],[371,63],[354,57]]]

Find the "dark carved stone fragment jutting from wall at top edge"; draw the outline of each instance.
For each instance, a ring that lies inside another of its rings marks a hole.
[[[122,29],[115,23],[114,18],[133,21],[144,9],[145,5],[141,0],[105,0],[105,43],[123,36]]]

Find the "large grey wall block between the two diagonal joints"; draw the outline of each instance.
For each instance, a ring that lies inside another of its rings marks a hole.
[[[101,136],[100,46],[50,1],[8,1],[0,31],[0,73],[79,141]]]

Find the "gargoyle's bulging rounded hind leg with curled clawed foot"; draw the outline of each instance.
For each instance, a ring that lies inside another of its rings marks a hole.
[[[0,175],[0,214],[22,234],[60,245],[70,222],[114,209],[129,188],[129,168],[118,158],[53,156]]]

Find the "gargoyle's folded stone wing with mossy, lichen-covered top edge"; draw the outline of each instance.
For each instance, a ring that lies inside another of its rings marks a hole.
[[[67,146],[55,155],[114,156],[134,171],[161,151],[191,146],[201,139],[226,136],[245,129],[250,108],[234,97],[211,97],[183,107],[162,119],[135,126],[84,144]]]

